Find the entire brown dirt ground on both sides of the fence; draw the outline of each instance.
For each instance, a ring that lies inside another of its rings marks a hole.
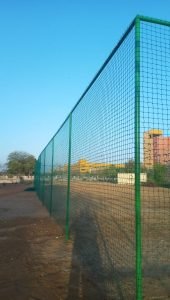
[[[135,299],[133,187],[71,191],[66,242],[64,185],[53,188],[57,222],[31,186],[0,186],[0,300]],[[170,299],[168,189],[142,188],[142,219],[144,299]]]

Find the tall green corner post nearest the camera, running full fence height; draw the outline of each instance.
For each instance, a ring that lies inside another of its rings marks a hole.
[[[140,194],[140,18],[135,19],[135,212],[136,299],[142,299],[142,232]]]

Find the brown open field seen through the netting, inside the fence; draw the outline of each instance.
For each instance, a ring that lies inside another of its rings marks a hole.
[[[141,196],[144,299],[169,299],[170,190],[142,187]],[[53,213],[61,225],[65,198],[65,183],[54,185]],[[134,299],[134,187],[72,181],[70,206],[73,251],[83,269],[108,299]]]

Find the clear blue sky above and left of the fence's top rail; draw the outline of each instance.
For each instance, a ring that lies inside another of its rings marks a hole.
[[[137,14],[170,1],[0,1],[0,163],[39,155]]]

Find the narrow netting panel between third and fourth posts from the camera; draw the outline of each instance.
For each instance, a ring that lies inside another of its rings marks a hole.
[[[44,205],[50,210],[51,206],[51,189],[52,189],[52,141],[45,149],[45,169],[44,169]]]

